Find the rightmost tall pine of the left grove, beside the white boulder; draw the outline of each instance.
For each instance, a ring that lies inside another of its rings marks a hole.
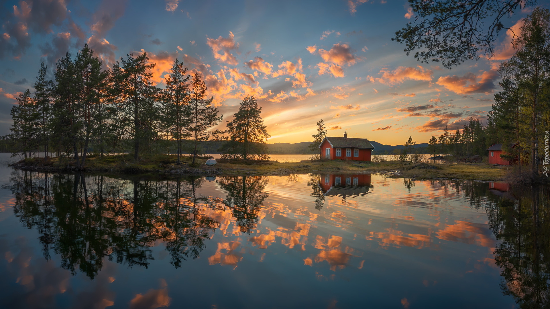
[[[191,90],[189,100],[189,113],[186,120],[189,123],[186,129],[191,141],[194,143],[193,162],[197,157],[197,146],[200,141],[207,141],[211,137],[223,134],[219,130],[210,130],[212,126],[217,125],[223,120],[223,115],[218,117],[218,108],[212,103],[213,98],[206,98],[206,85],[202,81],[201,75],[195,72],[191,79]]]

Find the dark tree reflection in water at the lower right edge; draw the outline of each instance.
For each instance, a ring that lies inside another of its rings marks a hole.
[[[520,308],[550,307],[550,187],[516,187],[489,208],[502,290]]]

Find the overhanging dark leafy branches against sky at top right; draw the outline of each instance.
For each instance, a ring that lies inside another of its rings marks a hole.
[[[393,41],[404,43],[406,54],[421,62],[441,62],[452,68],[469,59],[493,56],[503,19],[536,0],[408,0],[415,20],[396,31]],[[515,34],[518,35],[518,34]]]

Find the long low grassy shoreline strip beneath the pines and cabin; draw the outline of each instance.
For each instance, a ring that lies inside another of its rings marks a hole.
[[[289,175],[305,173],[364,174],[377,173],[392,178],[411,179],[460,179],[504,181],[510,167],[493,166],[487,163],[432,164],[406,161],[387,162],[292,162],[273,161],[229,161],[219,159],[214,167],[204,164],[190,165],[190,157],[182,157],[182,163],[175,163],[176,157],[168,154],[140,159],[134,162],[133,154],[90,157],[86,160],[85,172],[108,172],[125,174],[172,174],[172,175]],[[73,172],[74,160],[68,158],[27,158],[12,164],[13,167],[51,172]]]

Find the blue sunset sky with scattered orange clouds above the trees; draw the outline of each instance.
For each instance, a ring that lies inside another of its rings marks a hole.
[[[174,59],[183,59],[203,75],[224,120],[255,95],[269,142],[309,141],[321,118],[329,136],[345,130],[383,144],[403,144],[409,135],[427,142],[445,125],[486,119],[498,66],[513,54],[503,31],[492,59],[452,70],[417,62],[390,41],[414,20],[406,1],[29,0],[0,7],[0,135],[9,133],[14,97],[32,91],[40,62],[53,76],[56,60],[85,42],[106,68],[147,52],[159,87]],[[517,29],[528,13],[504,23]]]

